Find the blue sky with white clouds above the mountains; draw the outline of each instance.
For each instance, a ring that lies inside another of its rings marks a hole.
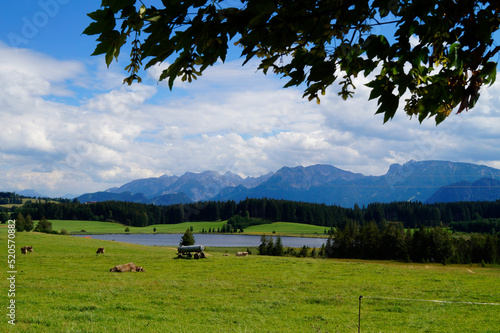
[[[99,0],[9,1],[0,13],[0,191],[82,194],[163,174],[215,170],[243,177],[331,164],[382,175],[393,163],[472,162],[500,168],[500,84],[439,126],[403,112],[383,124],[363,79],[347,102],[320,105],[237,57],[170,91],[123,63],[91,57],[82,35]]]

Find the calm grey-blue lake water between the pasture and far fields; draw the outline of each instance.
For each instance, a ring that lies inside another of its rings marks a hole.
[[[76,237],[85,237],[83,235],[74,235]],[[179,246],[182,234],[108,234],[108,235],[87,235],[94,239],[112,240],[116,242],[158,245],[158,246]],[[260,245],[261,236],[253,235],[210,235],[195,234],[196,244],[215,247],[251,247]],[[274,239],[276,239],[274,237]],[[281,237],[284,247],[302,247],[304,245],[310,248],[320,248],[326,243],[326,238],[308,238],[308,237]]]

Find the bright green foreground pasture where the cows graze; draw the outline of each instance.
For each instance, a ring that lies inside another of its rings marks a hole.
[[[0,239],[7,243],[4,225]],[[210,248],[207,259],[174,259],[169,247],[34,232],[15,241],[16,325],[7,322],[4,278],[5,332],[357,332],[359,315],[361,332],[500,327],[498,266],[236,257]],[[34,253],[22,255],[25,245]],[[146,272],[109,272],[128,262]]]

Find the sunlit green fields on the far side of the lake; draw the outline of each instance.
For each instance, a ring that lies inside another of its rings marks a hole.
[[[52,228],[57,231],[66,229],[71,234],[115,234],[125,233],[126,226],[119,223],[96,222],[96,221],[73,221],[73,220],[50,220]],[[129,227],[131,234],[153,233],[184,233],[186,229],[193,227],[194,233],[202,230],[220,229],[227,221],[217,222],[184,222],[178,224],[156,224],[147,227]],[[35,221],[35,224],[37,222]],[[82,232],[85,230],[85,232]],[[256,225],[245,229],[245,234],[276,234],[287,236],[325,236],[325,227],[309,224],[276,222],[272,224]],[[273,233],[274,232],[274,233]]]

